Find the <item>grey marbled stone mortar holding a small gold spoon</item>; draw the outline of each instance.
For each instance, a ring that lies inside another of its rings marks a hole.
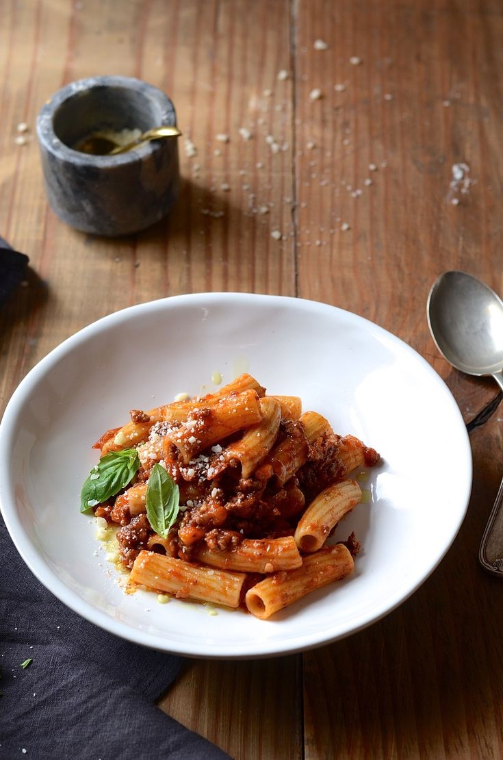
[[[55,93],[36,120],[55,214],[77,230],[109,237],[138,232],[166,216],[179,194],[176,138],[116,156],[71,147],[103,128],[144,132],[160,125],[176,126],[175,108],[161,90],[139,79],[91,77]]]

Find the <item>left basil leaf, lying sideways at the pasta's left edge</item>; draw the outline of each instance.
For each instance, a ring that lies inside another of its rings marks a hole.
[[[140,460],[135,448],[123,448],[102,457],[82,486],[81,512],[119,493],[131,483],[139,467]]]

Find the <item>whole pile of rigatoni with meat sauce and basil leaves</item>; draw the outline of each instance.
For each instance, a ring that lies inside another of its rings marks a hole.
[[[131,589],[266,619],[352,572],[354,535],[327,539],[359,503],[348,475],[377,464],[374,449],[251,375],[130,416],[96,442],[81,511],[118,526]]]

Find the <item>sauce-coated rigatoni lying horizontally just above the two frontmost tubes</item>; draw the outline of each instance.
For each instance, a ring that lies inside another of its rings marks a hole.
[[[242,572],[269,573],[293,570],[302,565],[293,536],[260,538],[242,541],[236,549],[214,551],[204,546],[198,549],[196,559],[212,567]]]

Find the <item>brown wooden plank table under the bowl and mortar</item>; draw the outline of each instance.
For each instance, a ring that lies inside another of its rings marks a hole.
[[[466,420],[498,396],[438,356],[425,299],[448,269],[503,293],[501,2],[2,0],[0,11],[0,233],[31,265],[0,311],[2,404],[96,318],[204,290],[370,318],[429,360]],[[43,193],[36,112],[91,74],[161,87],[197,148],[182,149],[176,213],[128,239],[69,229]],[[458,163],[470,182],[453,189]],[[410,600],[303,655],[189,661],[163,710],[246,760],[503,756],[503,587],[477,562],[502,470],[498,410],[471,442],[467,518]]]

